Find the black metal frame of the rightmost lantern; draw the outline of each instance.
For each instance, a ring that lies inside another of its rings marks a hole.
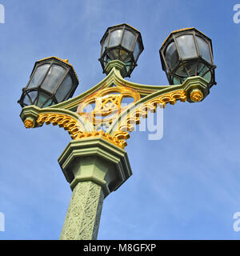
[[[186,34],[191,34],[194,37],[194,45],[195,45],[195,49],[197,51],[197,57],[184,58],[184,59],[181,58],[181,52],[178,49],[178,42],[176,41],[176,38],[178,38],[179,35],[186,35]],[[198,43],[197,43],[196,36],[198,36],[199,38],[202,38],[208,44],[209,49],[210,49],[211,63],[207,62],[204,58],[202,58],[202,55],[200,54],[200,52],[198,50]],[[168,64],[166,62],[166,58],[165,58],[166,48],[167,48],[167,46],[170,45],[171,42],[174,42],[174,44],[176,46],[176,50],[178,51],[178,56],[179,56],[178,62],[172,69],[170,69],[170,67],[168,66]],[[216,68],[216,66],[214,65],[212,42],[211,42],[210,38],[208,38],[205,34],[202,34],[202,32],[200,32],[199,30],[196,30],[195,28],[189,28],[189,29],[177,30],[177,31],[172,32],[168,36],[168,38],[166,38],[166,41],[162,44],[162,47],[159,50],[159,54],[160,54],[160,58],[161,58],[161,62],[162,62],[162,70],[164,70],[166,72],[166,77],[167,77],[170,85],[174,85],[174,78],[178,78],[181,83],[184,82],[184,80],[186,79],[186,77],[180,77],[178,74],[175,73],[180,66],[184,67],[184,70],[186,70],[186,74],[188,74],[189,77],[191,76],[189,71],[186,69],[186,64],[190,63],[190,62],[195,62],[197,64],[197,68],[195,69],[195,74],[194,74],[196,76],[198,76],[201,73],[201,72],[198,72],[198,65],[200,63],[204,64],[208,69],[201,76],[203,77],[205,74],[210,72],[211,80],[209,82],[209,86],[211,87],[214,84],[216,84],[215,72],[214,72],[214,69]]]

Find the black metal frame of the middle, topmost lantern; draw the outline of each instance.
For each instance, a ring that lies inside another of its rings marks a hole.
[[[119,29],[122,29],[122,38],[120,40],[120,43],[117,46],[110,46],[109,47],[110,34],[114,30],[119,30]],[[133,44],[131,50],[128,50],[124,46],[122,46],[122,39],[123,39],[125,30],[130,30],[130,32],[134,33],[134,35],[135,35],[134,44]],[[106,43],[105,49],[103,49],[103,45],[104,45],[104,42],[105,42],[107,37],[108,37],[108,42]],[[138,41],[138,45],[139,45],[139,53],[138,53],[137,58],[134,59],[134,47],[135,47],[135,44],[137,43],[137,41]],[[135,66],[138,66],[137,65],[138,58],[139,58],[140,54],[142,53],[142,51],[144,50],[144,46],[142,44],[141,33],[138,30],[135,30],[132,26],[129,26],[128,24],[126,24],[126,23],[116,25],[116,26],[110,26],[106,30],[105,34],[103,35],[103,37],[100,41],[100,44],[101,44],[101,57],[98,60],[102,65],[103,73],[107,74],[107,71],[106,71],[105,67],[106,67],[106,64],[108,62],[110,62],[110,60],[112,60],[112,58],[110,58],[110,54],[113,53],[114,50],[117,50],[118,54],[115,55],[114,59],[118,59],[122,62],[126,62],[126,60],[128,58],[130,58],[130,63],[127,64],[125,66],[125,69],[121,71],[122,77],[130,77],[130,74],[134,70]],[[120,50],[124,50],[126,52],[126,58],[124,58],[124,59],[120,58]],[[128,68],[129,68],[129,70],[128,70]]]

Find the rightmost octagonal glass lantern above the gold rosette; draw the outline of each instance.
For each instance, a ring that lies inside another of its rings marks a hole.
[[[202,32],[194,28],[172,32],[159,54],[170,85],[182,84],[192,76],[201,76],[210,87],[216,84],[212,42]]]

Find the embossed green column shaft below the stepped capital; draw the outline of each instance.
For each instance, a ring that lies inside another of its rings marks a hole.
[[[96,240],[104,194],[94,182],[78,182],[70,200],[61,240]]]

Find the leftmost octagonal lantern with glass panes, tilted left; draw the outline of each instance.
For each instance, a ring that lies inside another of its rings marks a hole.
[[[35,105],[42,108],[64,102],[73,96],[78,83],[74,67],[68,60],[44,58],[35,62],[18,103],[22,107]]]

